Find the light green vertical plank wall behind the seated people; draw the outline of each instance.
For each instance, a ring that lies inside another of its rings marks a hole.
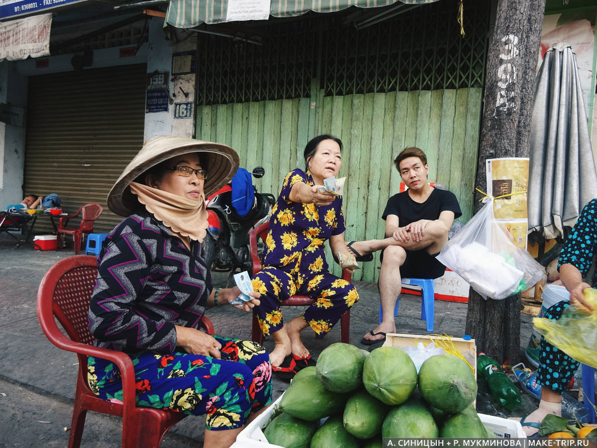
[[[384,235],[381,214],[399,191],[393,159],[418,146],[427,154],[429,180],[456,194],[466,222],[473,213],[481,88],[410,91],[198,106],[196,138],[226,143],[239,153],[241,167],[261,165],[257,189],[277,195],[288,171],[304,168],[310,138],[330,133],[343,142],[340,176],[346,176],[344,238]],[[314,107],[313,102],[315,102]],[[328,263],[334,273],[340,269]],[[377,281],[378,257],[361,263],[354,280]]]

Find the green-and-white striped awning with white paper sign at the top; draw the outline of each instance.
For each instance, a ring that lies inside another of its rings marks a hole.
[[[438,0],[171,0],[166,23],[177,28],[192,28],[202,23],[215,24],[238,20],[266,20],[294,17],[315,11],[334,13],[351,6],[376,8],[402,3],[420,5]]]

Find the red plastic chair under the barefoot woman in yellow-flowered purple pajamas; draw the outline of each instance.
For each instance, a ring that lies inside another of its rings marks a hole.
[[[267,238],[267,230],[269,229],[269,222],[264,222],[263,224],[257,226],[249,233],[249,246],[251,251],[251,261],[253,262],[253,275],[257,274],[257,272],[261,271],[261,259],[259,257],[259,253],[257,251],[257,239],[259,238],[265,244],[265,240]],[[352,272],[349,269],[344,269],[342,272],[342,278],[346,281],[351,280]],[[309,296],[292,296],[288,300],[282,300],[282,306],[300,306],[300,305],[313,305],[315,300]],[[341,328],[341,340],[344,343],[349,343],[350,339],[350,309],[346,311],[342,317],[340,318],[340,328]],[[259,327],[259,321],[257,320],[257,315],[253,312],[253,324],[251,326],[251,339],[257,343],[263,343],[263,332],[261,332],[261,328]]]

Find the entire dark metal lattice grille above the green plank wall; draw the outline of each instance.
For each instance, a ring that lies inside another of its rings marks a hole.
[[[489,5],[439,1],[358,28],[354,11],[274,20],[249,41],[199,35],[198,104],[482,87]]]

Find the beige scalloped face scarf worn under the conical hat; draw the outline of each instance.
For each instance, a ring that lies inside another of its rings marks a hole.
[[[174,234],[189,237],[199,243],[203,241],[207,233],[207,210],[203,193],[198,200],[193,201],[142,183],[131,182],[130,188],[147,211]]]

